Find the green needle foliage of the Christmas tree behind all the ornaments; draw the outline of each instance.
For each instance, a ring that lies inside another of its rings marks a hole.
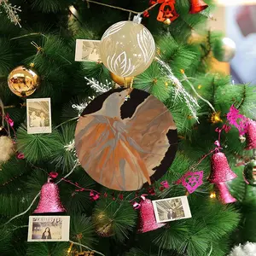
[[[127,20],[129,12],[88,1],[9,2],[22,9],[22,27],[0,12],[0,99],[5,106],[4,112],[0,107],[0,113],[8,113],[14,121],[7,135],[15,146],[12,157],[0,164],[1,255],[76,256],[75,252],[89,250],[103,256],[225,256],[235,244],[255,241],[256,189],[245,183],[242,173],[244,161],[250,160],[253,151],[245,150],[247,142],[241,143],[234,126],[221,133],[220,143],[237,175],[226,183],[236,203],[221,203],[214,184],[207,180],[218,140],[216,129],[228,124],[230,107],[234,105],[247,118],[256,119],[255,85],[233,84],[229,75],[212,71],[212,59],[221,59],[224,54],[224,35],[209,31],[206,25],[215,8],[213,0],[205,0],[209,7],[195,15],[189,14],[189,0],[177,0],[179,17],[170,26],[156,19],[160,5],[143,18],[143,25],[154,36],[156,58],[134,78],[133,87],[157,97],[170,110],[177,125],[178,149],[165,175],[137,191],[115,191],[96,183],[79,165],[74,141],[79,116],[101,94],[87,79],[119,87],[100,61],[74,61],[76,39],[100,40],[109,26]],[[143,12],[149,0],[96,2]],[[29,98],[50,98],[53,127],[49,134],[27,134],[26,98],[9,90],[12,69],[31,64],[40,85]],[[198,104],[192,106],[191,101]],[[221,119],[217,123],[211,120],[215,112]],[[188,171],[204,172],[201,186],[192,194],[177,183]],[[67,212],[56,214],[70,216],[70,241],[28,242],[28,218],[38,207],[40,190],[50,172],[58,174],[53,182]],[[163,189],[162,182],[169,187]],[[187,195],[192,218],[138,234],[141,209],[135,210],[133,203],[142,203],[141,195],[149,200]]]

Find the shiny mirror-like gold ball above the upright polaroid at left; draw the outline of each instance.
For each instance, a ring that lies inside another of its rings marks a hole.
[[[31,67],[16,67],[8,76],[9,89],[20,97],[31,96],[39,86],[38,74]]]

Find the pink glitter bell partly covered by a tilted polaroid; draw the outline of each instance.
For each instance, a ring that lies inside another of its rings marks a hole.
[[[165,223],[157,223],[154,217],[154,207],[149,199],[142,199],[140,207],[140,222],[138,233],[146,233],[148,231],[157,230],[165,225]]]

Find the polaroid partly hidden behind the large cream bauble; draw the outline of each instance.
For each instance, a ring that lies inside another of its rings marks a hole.
[[[100,40],[77,39],[75,61],[101,61]]]

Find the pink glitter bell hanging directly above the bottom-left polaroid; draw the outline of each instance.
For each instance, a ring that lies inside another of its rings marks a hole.
[[[53,176],[49,176],[48,182],[42,186],[38,207],[33,213],[66,212],[61,203],[58,185],[51,182]]]

